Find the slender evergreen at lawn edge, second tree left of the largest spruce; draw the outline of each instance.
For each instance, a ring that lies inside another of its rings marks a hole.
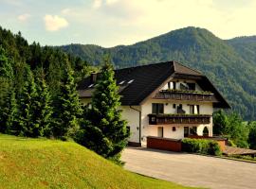
[[[43,68],[39,69],[38,77],[36,77],[35,111],[33,113],[33,121],[37,127],[34,128],[35,136],[50,136],[52,130],[51,124],[51,97],[48,92]]]

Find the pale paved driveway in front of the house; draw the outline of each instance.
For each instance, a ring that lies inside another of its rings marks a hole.
[[[122,161],[130,171],[183,185],[256,188],[256,163],[136,147],[127,147]]]

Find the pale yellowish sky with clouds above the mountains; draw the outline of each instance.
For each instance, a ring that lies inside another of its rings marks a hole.
[[[198,26],[221,39],[256,35],[256,0],[0,0],[0,26],[28,43],[133,44]]]

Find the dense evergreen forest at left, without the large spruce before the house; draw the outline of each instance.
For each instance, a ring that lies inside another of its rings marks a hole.
[[[0,132],[63,137],[77,124],[76,82],[90,66],[0,27]],[[72,126],[72,127],[71,127]]]

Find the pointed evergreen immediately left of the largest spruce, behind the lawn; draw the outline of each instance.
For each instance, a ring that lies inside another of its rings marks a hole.
[[[56,127],[54,129],[55,136],[73,136],[80,128],[80,117],[82,115],[82,105],[79,100],[79,95],[76,88],[76,83],[73,77],[73,70],[70,64],[65,59],[66,67],[64,72],[64,80],[61,85],[61,93],[58,97],[56,112]]]

